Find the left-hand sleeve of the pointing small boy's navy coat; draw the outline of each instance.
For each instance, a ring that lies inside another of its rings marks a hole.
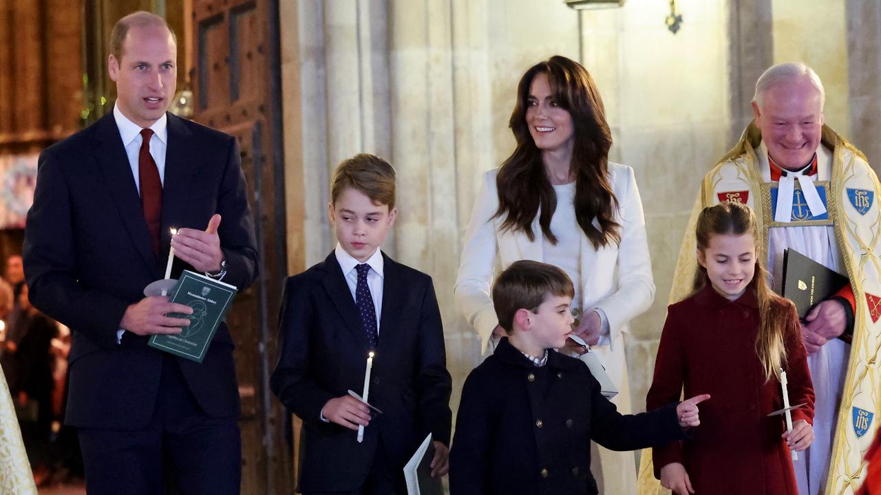
[[[462,401],[455,419],[455,438],[449,454],[451,495],[483,495],[492,460],[490,443],[499,418],[486,400],[490,384],[481,385],[478,372],[471,372],[462,389]]]

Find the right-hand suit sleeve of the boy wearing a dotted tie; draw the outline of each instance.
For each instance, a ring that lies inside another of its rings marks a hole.
[[[431,277],[419,314],[418,370],[416,384],[419,395],[419,414],[432,432],[433,440],[449,446],[453,412],[449,409],[449,396],[453,380],[447,371],[447,350],[443,340],[441,310],[434,295]]]

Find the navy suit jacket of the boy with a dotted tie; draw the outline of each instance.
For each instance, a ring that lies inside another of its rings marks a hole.
[[[431,277],[386,255],[379,344],[369,402],[382,410],[364,432],[322,422],[324,404],[364,388],[366,333],[337,256],[285,280],[281,350],[272,391],[303,420],[298,491],[355,491],[380,441],[401,474],[429,432],[449,445],[452,380]],[[403,475],[402,475],[403,476]]]

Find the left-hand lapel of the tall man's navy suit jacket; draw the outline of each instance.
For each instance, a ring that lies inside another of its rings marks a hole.
[[[153,254],[150,231],[144,220],[141,197],[137,193],[129,157],[125,154],[125,147],[122,146],[122,137],[116,127],[113,113],[105,115],[98,122],[95,140],[95,157],[101,173],[107,178],[110,195],[114,198],[116,210],[122,218],[122,225],[125,225],[137,252],[144,258],[153,275],[158,278],[159,266],[156,255]]]

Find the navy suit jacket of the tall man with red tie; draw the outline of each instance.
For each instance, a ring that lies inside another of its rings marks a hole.
[[[135,430],[152,417],[163,352],[126,332],[126,307],[164,276],[170,227],[204,230],[214,213],[226,255],[224,282],[245,289],[256,276],[254,220],[233,137],[167,114],[159,259],[112,113],[40,155],[27,213],[24,261],[33,306],[70,327],[66,422]],[[172,277],[193,270],[175,259]],[[202,364],[174,358],[211,417],[239,414],[233,343],[221,325]]]

